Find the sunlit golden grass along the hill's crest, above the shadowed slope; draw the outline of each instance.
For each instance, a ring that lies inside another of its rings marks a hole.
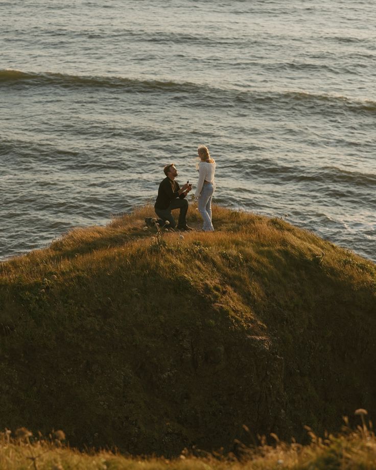
[[[188,221],[198,229],[201,218],[196,209],[196,205],[190,206]],[[341,273],[356,284],[374,282],[374,264],[349,250],[341,249],[284,220],[216,205],[213,207],[215,232],[184,232],[184,238],[181,239],[180,232],[170,231],[165,234],[168,249],[161,257],[158,252],[144,251],[153,241],[151,236],[155,232],[154,229],[143,229],[144,219],[150,215],[153,215],[151,206],[138,207],[133,213],[113,220],[108,226],[73,229],[48,248],[1,263],[0,278],[25,283],[42,281],[46,274],[53,272],[55,276],[61,276],[93,265],[97,265],[97,268],[111,265],[113,268],[114,262],[123,263],[126,256],[132,259],[137,269],[137,253],[142,253],[142,258],[146,255],[148,259],[157,259],[158,264],[165,260],[170,263],[176,247],[186,247],[197,241],[209,247],[213,253],[221,249],[228,250],[229,256],[247,255],[255,268],[275,268],[278,257],[281,259],[278,253],[289,251],[292,255],[322,266],[327,265],[334,276]]]

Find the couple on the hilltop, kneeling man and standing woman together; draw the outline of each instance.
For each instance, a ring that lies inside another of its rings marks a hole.
[[[203,219],[204,231],[213,231],[212,224],[212,197],[215,190],[214,174],[216,162],[210,157],[207,147],[201,145],[197,149],[200,162],[198,163],[199,178],[195,197],[198,198],[198,210]],[[154,204],[154,210],[159,219],[148,217],[145,219],[147,225],[152,226],[158,223],[160,227],[169,222],[171,228],[176,227],[175,220],[171,214],[173,209],[180,209],[177,228],[180,230],[192,230],[186,224],[186,213],[188,211],[188,201],[185,196],[192,190],[192,184],[187,181],[182,187],[175,181],[178,172],[174,163],[163,168],[166,178],[159,184],[158,196]]]

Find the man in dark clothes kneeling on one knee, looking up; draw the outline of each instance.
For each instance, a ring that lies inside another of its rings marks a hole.
[[[171,214],[171,210],[180,209],[178,229],[192,230],[186,224],[186,213],[188,211],[188,201],[185,196],[192,190],[192,185],[189,183],[184,184],[181,188],[179,183],[175,181],[178,172],[175,165],[171,163],[163,168],[166,178],[159,184],[158,196],[154,204],[154,210],[159,217],[157,223],[160,227],[166,224],[166,220],[170,222],[169,227],[175,228],[176,223]]]

